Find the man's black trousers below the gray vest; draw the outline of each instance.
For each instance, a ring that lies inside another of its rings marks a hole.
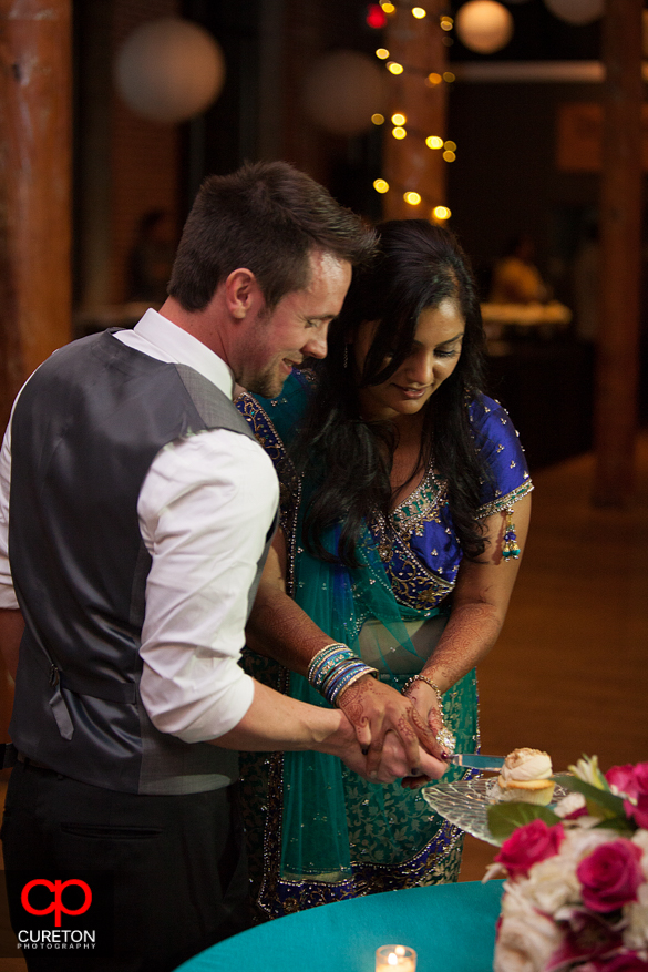
[[[137,796],[19,763],[9,781],[1,838],[8,872],[112,876],[113,955],[25,949],[30,972],[171,972],[249,924],[236,785],[185,796]],[[24,911],[16,888],[8,892],[18,934]]]

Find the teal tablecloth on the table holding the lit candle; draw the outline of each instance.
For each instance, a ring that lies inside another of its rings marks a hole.
[[[435,884],[323,904],[226,939],[182,972],[373,972],[379,945],[410,945],[416,972],[492,972],[502,881]],[[179,970],[178,970],[179,972]]]

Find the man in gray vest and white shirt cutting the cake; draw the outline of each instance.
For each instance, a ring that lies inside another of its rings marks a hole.
[[[285,163],[210,177],[161,311],[54,352],[17,400],[0,456],[12,924],[29,917],[27,872],[110,873],[115,909],[112,954],[35,947],[30,970],[165,972],[245,925],[237,749],[364,769],[340,710],[238,665],[278,484],[232,393],[276,396],[326,355],[372,248]]]

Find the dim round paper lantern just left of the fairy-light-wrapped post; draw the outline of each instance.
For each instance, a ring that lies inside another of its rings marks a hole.
[[[358,135],[384,105],[385,75],[358,51],[333,51],[308,72],[302,103],[312,121],[336,135]]]

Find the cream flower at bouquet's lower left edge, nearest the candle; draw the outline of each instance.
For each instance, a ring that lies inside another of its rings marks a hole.
[[[563,941],[558,927],[506,884],[494,972],[542,972]],[[506,899],[510,898],[508,907]]]

